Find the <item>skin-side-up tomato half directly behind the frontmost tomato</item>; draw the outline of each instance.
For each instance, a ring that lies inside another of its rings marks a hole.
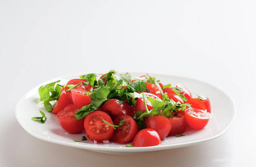
[[[144,123],[147,125],[146,128],[156,130],[161,139],[165,138],[172,129],[170,121],[163,116],[151,116]]]

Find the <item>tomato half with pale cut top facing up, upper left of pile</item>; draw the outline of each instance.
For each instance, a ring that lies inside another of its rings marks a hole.
[[[76,107],[83,107],[90,104],[90,92],[84,89],[71,89],[72,101]]]

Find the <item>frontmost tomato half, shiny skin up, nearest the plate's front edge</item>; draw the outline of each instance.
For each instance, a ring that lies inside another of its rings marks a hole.
[[[159,144],[162,142],[157,131],[148,128],[140,130],[132,142],[134,147],[150,147]]]

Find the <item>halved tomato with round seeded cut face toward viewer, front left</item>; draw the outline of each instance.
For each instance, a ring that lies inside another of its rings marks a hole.
[[[96,140],[101,142],[109,140],[112,137],[114,133],[113,127],[109,126],[102,120],[113,125],[110,116],[102,111],[93,111],[85,117],[84,130],[91,141]]]

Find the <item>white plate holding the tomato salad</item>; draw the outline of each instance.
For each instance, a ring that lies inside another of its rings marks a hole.
[[[133,77],[145,75],[144,73],[132,72]],[[145,153],[154,152],[160,150],[173,149],[178,147],[186,147],[194,144],[199,144],[203,141],[209,141],[222,135],[232,124],[236,107],[233,100],[224,93],[221,89],[213,86],[204,81],[197,79],[186,78],[175,75],[162,75],[162,74],[149,74],[156,77],[163,84],[172,83],[175,85],[177,82],[185,85],[195,96],[195,93],[207,96],[212,105],[212,118],[203,130],[189,129],[185,132],[186,136],[182,137],[167,137],[162,141],[160,146],[154,147],[125,147],[126,144],[116,144],[110,142],[94,144],[93,141],[81,141],[74,142],[74,140],[80,141],[84,132],[79,134],[69,134],[65,132],[58,124],[58,120],[55,114],[46,112],[43,105],[39,102],[38,88],[42,85],[50,83],[52,81],[61,80],[61,83],[67,83],[70,79],[79,78],[78,75],[68,75],[59,78],[52,79],[45,83],[34,87],[29,90],[17,104],[16,118],[20,125],[29,134],[35,136],[44,141],[49,141],[56,144],[62,144],[70,147],[77,147],[81,149],[101,152],[101,153],[113,153],[113,154],[132,154],[132,153]],[[40,116],[39,109],[45,112],[47,121],[44,124],[32,121],[31,117]]]

